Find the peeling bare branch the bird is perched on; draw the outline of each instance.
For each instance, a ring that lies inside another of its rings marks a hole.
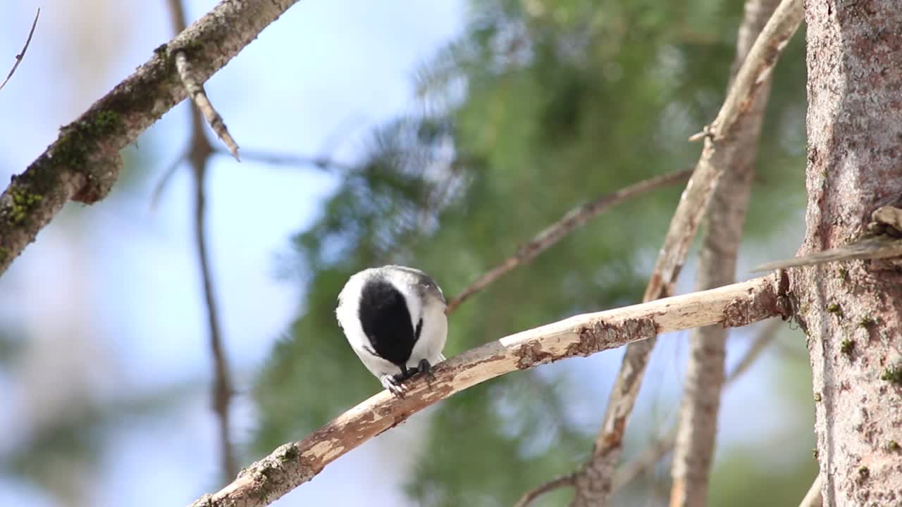
[[[404,398],[380,392],[307,438],[277,448],[192,507],[252,507],[279,499],[339,456],[456,392],[504,373],[566,357],[586,356],[659,333],[708,326],[744,326],[782,315],[778,277],[769,275],[621,309],[577,315],[476,347],[437,364],[431,383],[413,382]]]

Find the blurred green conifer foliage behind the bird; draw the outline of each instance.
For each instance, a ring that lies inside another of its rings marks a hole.
[[[686,138],[723,100],[741,12],[742,2],[713,0],[471,0],[465,32],[419,69],[422,114],[375,133],[364,161],[296,238],[305,296],[255,386],[254,452],[300,438],[380,389],[336,326],[336,295],[353,272],[415,265],[451,297],[570,208],[692,167],[700,145]],[[802,41],[775,73],[753,238],[802,204]],[[594,219],[465,303],[450,317],[446,355],[640,300],[680,190]],[[410,473],[411,498],[511,505],[582,463],[592,435],[563,398],[579,386],[549,372],[506,375],[440,403]]]

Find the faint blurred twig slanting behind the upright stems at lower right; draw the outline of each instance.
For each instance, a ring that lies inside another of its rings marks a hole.
[[[724,387],[729,387],[732,383],[735,383],[743,373],[749,371],[751,365],[755,364],[755,361],[761,356],[761,352],[770,345],[770,342],[774,341],[774,338],[777,336],[777,331],[782,325],[783,321],[778,318],[771,318],[768,320],[758,336],[755,336],[755,341],[751,343],[751,346],[749,346],[748,350],[745,351],[745,354],[742,355],[739,363],[736,364],[732,372],[727,375],[726,380],[723,381]],[[667,455],[667,453],[673,450],[675,444],[676,425],[667,430],[667,435],[664,438],[651,444],[642,451],[639,456],[617,470],[617,474],[614,475],[613,478],[611,493],[630,484],[632,481],[636,480],[637,477],[649,470],[649,468],[655,466],[655,464]]]

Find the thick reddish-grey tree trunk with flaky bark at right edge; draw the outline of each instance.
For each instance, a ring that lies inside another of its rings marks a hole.
[[[800,254],[850,243],[902,198],[902,9],[808,2],[807,231]],[[902,269],[791,270],[808,335],[824,505],[902,502]]]

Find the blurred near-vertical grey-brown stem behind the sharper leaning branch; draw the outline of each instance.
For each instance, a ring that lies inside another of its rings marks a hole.
[[[745,3],[728,89],[778,4],[779,0],[748,0]],[[768,77],[751,102],[749,114],[741,116],[733,126],[732,142],[725,143],[713,154],[712,164],[724,170],[708,208],[707,234],[698,262],[695,290],[713,289],[735,281],[736,255],[755,175],[755,152],[769,93]],[[686,387],[671,469],[670,505],[674,507],[702,506],[708,496],[724,380],[726,338],[727,330],[716,326],[696,328],[690,335]]]

